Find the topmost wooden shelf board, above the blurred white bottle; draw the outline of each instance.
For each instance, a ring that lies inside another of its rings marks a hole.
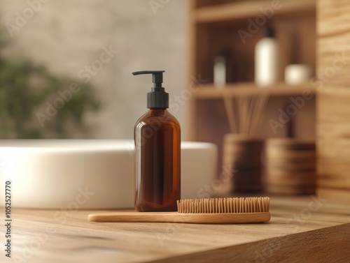
[[[269,7],[272,8],[271,0],[239,1],[197,8],[194,14],[197,23],[223,22],[263,15],[262,10]],[[312,11],[316,10],[316,0],[281,1],[277,8],[272,10],[273,15]]]

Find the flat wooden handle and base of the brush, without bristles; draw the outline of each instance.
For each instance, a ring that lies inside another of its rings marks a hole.
[[[259,223],[270,219],[269,212],[260,213],[177,213],[177,212],[120,212],[92,213],[90,222],[144,222],[144,223]]]

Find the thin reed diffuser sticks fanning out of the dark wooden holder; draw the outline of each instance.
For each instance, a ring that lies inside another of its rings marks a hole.
[[[258,135],[268,96],[223,98],[231,133]]]

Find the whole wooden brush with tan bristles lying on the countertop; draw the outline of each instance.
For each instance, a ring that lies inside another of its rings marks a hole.
[[[177,202],[178,212],[92,213],[92,222],[259,223],[270,219],[269,197],[189,199]]]

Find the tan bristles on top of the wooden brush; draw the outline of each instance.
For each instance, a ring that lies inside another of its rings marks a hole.
[[[177,201],[179,213],[259,213],[269,211],[269,197],[185,199]]]

